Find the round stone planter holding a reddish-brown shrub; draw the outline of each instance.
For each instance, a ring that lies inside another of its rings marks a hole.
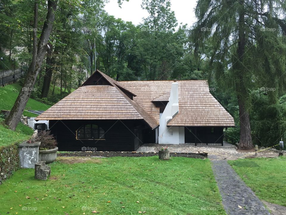
[[[57,158],[57,141],[50,131],[39,132],[35,141],[41,142],[39,147],[39,161],[51,163]]]

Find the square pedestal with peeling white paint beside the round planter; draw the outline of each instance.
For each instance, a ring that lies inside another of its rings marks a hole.
[[[39,146],[41,142],[35,143],[20,143],[18,146],[20,167],[35,168],[35,163],[39,159]]]

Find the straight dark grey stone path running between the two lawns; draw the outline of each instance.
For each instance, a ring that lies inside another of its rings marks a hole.
[[[226,160],[211,160],[223,206],[229,215],[270,215]]]

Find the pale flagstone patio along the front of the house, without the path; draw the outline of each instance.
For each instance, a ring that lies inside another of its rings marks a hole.
[[[137,149],[137,152],[158,152],[162,146],[168,146],[170,152],[174,153],[197,153],[197,152],[207,152],[209,153],[209,159],[229,159],[234,160],[242,156],[246,156],[249,153],[238,152],[236,147],[232,144],[224,142],[224,146],[207,146],[207,145],[190,145],[190,144],[144,144]],[[258,157],[262,156],[278,156],[278,153],[267,152],[258,153]]]

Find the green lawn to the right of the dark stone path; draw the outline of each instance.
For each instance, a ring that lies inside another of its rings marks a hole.
[[[254,158],[229,161],[237,174],[258,196],[286,206],[286,157]]]

